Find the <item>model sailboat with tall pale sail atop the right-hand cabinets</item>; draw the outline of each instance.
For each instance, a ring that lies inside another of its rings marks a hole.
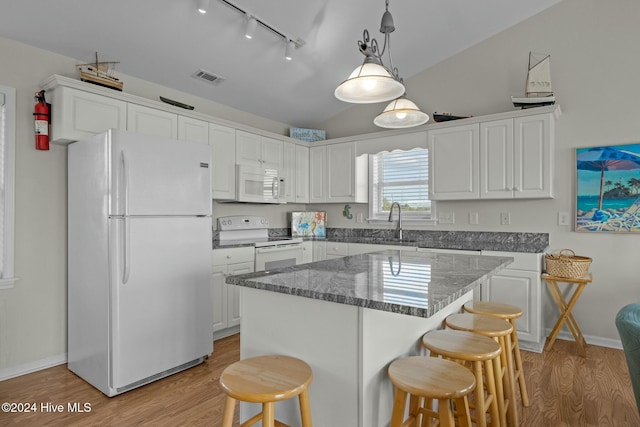
[[[556,102],[551,87],[550,55],[529,52],[529,71],[524,97],[511,97],[514,107],[532,108]]]

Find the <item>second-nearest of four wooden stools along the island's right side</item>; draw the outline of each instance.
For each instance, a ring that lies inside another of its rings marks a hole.
[[[470,364],[476,379],[473,402],[473,419],[476,425],[487,425],[486,414],[489,414],[492,426],[505,425],[504,394],[499,377],[502,372],[502,350],[495,340],[472,332],[437,330],[426,333],[422,337],[422,344],[430,351],[431,356],[442,356]]]

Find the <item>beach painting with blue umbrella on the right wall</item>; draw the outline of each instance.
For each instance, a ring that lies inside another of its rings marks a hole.
[[[576,150],[576,231],[640,233],[640,143]]]

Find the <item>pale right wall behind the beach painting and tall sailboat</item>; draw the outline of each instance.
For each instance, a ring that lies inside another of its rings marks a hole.
[[[548,232],[552,250],[573,248],[592,257],[594,281],[574,314],[588,342],[608,345],[619,343],[617,311],[640,301],[640,235],[576,233],[557,225],[557,213],[575,211],[576,148],[640,141],[638,16],[635,0],[564,0],[407,80],[409,98],[429,114],[499,113],[513,110],[511,95],[524,93],[529,51],[551,54],[551,79],[563,111],[556,122],[555,199],[441,202],[438,209],[454,212],[456,224],[435,229]],[[396,65],[402,71],[402,63]],[[374,132],[372,120],[382,108],[355,106],[321,128],[331,138]],[[359,226],[342,218],[342,207],[329,209],[330,225]],[[468,224],[472,211],[479,212],[478,225]],[[511,212],[510,226],[499,223],[503,211]],[[557,318],[552,308],[545,313],[547,327]]]

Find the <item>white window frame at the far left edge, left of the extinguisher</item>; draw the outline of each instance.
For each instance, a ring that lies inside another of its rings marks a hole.
[[[0,241],[4,271],[0,272],[0,290],[13,288],[15,256],[15,147],[16,147],[16,89],[0,85],[4,97],[4,238]],[[0,99],[1,101],[1,99]],[[2,117],[0,117],[2,119]],[[0,149],[3,147],[0,146]]]

